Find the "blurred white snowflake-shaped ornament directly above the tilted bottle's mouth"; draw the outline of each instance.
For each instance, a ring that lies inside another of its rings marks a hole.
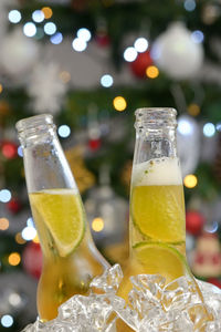
[[[56,63],[40,63],[34,68],[28,93],[33,98],[34,113],[57,113],[61,108],[66,85],[60,79]]]

